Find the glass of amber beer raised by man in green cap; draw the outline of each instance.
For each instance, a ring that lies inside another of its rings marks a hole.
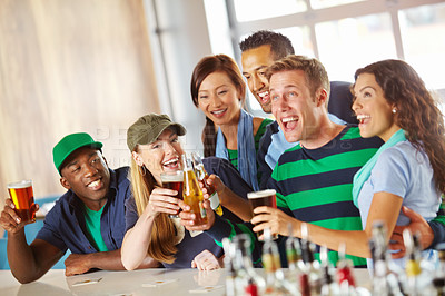
[[[9,196],[16,206],[16,213],[21,221],[36,221],[34,195],[32,193],[32,181],[22,180],[8,184]]]

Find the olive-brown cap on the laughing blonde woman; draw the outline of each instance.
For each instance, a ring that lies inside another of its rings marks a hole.
[[[167,115],[149,114],[140,117],[127,131],[127,146],[134,151],[136,146],[156,141],[166,128],[174,128],[178,136],[186,135],[186,129],[171,122]]]

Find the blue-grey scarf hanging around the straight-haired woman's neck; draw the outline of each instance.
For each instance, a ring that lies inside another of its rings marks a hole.
[[[241,109],[238,121],[238,171],[243,179],[249,184],[255,191],[259,190],[257,179],[257,152],[254,140],[254,117]],[[226,148],[226,139],[219,128],[216,138],[216,157],[229,159]]]

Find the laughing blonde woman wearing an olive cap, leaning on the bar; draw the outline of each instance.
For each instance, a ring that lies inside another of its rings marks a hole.
[[[131,270],[149,256],[165,267],[215,269],[220,267],[222,248],[207,234],[191,236],[179,219],[169,218],[179,209],[175,190],[161,188],[160,174],[181,169],[184,154],[178,136],[186,129],[166,115],[139,118],[127,132],[131,150],[130,180],[134,198],[126,203],[127,234],[122,264]]]

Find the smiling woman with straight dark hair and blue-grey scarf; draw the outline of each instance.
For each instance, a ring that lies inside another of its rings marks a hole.
[[[226,55],[208,56],[195,67],[191,99],[206,115],[204,155],[230,160],[243,178],[258,190],[257,151],[271,119],[253,117],[241,106],[246,85],[236,62]]]

